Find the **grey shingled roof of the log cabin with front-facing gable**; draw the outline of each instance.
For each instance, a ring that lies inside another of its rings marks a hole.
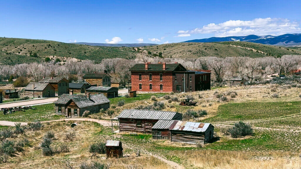
[[[104,103],[109,103],[110,100],[105,97],[103,94],[91,95],[90,99],[87,95],[71,95],[71,94],[62,94],[54,104],[67,104],[69,101],[73,101],[79,108],[95,106]]]

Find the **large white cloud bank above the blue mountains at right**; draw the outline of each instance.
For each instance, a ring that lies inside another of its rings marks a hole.
[[[223,23],[209,23],[202,28],[189,31],[178,31],[178,36],[192,33],[214,34],[217,37],[244,35],[282,35],[286,33],[300,33],[299,23],[284,18],[256,18],[253,20],[228,20]]]

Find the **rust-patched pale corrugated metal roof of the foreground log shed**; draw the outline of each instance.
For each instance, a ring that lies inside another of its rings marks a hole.
[[[174,124],[174,123],[172,123],[172,124]],[[210,123],[200,123],[200,122],[191,122],[191,121],[177,121],[176,124],[171,125],[169,127],[169,130],[205,132],[207,130],[207,128],[209,127],[209,125],[212,125],[212,124],[210,124]]]

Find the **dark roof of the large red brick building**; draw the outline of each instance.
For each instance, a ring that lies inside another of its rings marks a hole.
[[[148,69],[145,70],[145,64],[144,63],[138,63],[135,64],[130,71],[176,71],[178,67],[181,67],[184,71],[186,71],[185,67],[183,67],[180,63],[166,63],[166,69],[163,70],[163,64],[156,63],[148,64]]]

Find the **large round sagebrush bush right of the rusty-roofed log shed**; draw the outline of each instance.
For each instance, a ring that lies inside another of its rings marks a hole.
[[[237,138],[240,136],[247,136],[253,134],[253,129],[250,124],[246,124],[243,121],[239,121],[234,124],[234,127],[229,129],[231,137]]]

